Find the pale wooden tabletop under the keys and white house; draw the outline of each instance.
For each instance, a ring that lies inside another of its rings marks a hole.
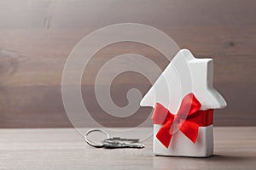
[[[214,155],[189,158],[154,156],[152,139],[141,150],[106,150],[90,147],[73,128],[0,129],[0,169],[255,169],[255,132],[214,127]]]

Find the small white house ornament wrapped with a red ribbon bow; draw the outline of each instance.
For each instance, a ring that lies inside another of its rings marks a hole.
[[[213,111],[224,98],[212,87],[212,59],[181,49],[141,101],[154,107],[154,155],[212,156]]]

